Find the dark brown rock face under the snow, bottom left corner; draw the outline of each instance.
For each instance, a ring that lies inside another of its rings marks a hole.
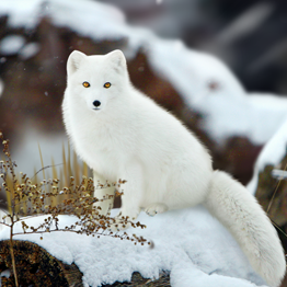
[[[13,240],[16,273],[21,286],[81,287],[82,273],[51,256],[45,249],[30,241]],[[12,271],[10,242],[0,241],[0,272]],[[1,277],[1,286],[15,286],[14,278]]]

